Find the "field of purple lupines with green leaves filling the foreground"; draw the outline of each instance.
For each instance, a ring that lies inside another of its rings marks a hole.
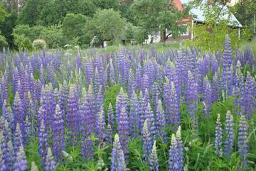
[[[0,170],[255,170],[255,57],[0,53]]]

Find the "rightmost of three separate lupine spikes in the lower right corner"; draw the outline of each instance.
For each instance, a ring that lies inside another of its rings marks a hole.
[[[244,115],[241,115],[238,126],[238,151],[240,153],[240,170],[247,170],[247,158],[249,153],[249,126]]]

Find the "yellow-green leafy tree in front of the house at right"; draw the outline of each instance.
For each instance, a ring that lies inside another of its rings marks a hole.
[[[235,45],[240,45],[250,38],[247,29],[241,31],[241,38],[239,38],[239,29],[236,27],[238,23],[230,22],[231,13],[228,9],[223,9],[223,6],[201,4],[198,8],[203,10],[205,21],[203,24],[195,23],[191,26],[193,40],[183,42],[185,45],[193,45],[202,50],[216,52],[223,50],[224,38],[227,34],[230,36],[233,49],[235,49]]]

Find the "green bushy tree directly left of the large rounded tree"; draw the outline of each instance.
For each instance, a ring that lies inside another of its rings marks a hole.
[[[84,34],[83,28],[86,22],[86,16],[80,13],[68,13],[63,19],[63,34],[68,40],[72,40],[77,37],[80,38]]]

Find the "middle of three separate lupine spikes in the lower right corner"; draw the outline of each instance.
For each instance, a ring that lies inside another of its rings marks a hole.
[[[225,139],[225,156],[230,158],[234,145],[234,120],[230,111],[227,111],[226,114],[225,133],[227,135],[227,138]]]

